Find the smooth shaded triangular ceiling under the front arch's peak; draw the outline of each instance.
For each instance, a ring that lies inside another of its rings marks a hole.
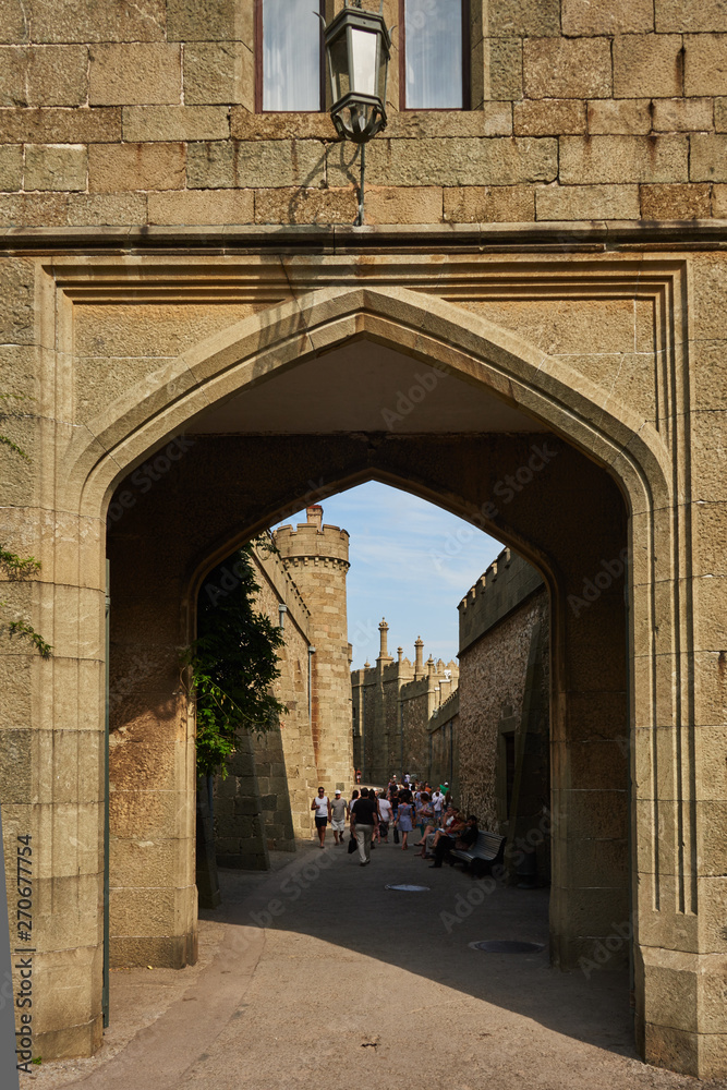
[[[367,338],[313,356],[201,413],[196,434],[542,432],[483,389]]]

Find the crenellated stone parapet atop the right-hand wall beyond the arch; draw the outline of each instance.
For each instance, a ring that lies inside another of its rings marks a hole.
[[[543,586],[532,565],[509,548],[502,549],[457,607],[460,654]]]

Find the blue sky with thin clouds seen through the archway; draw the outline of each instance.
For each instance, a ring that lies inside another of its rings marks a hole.
[[[323,501],[324,522],[351,535],[349,641],[353,667],[378,654],[378,623],[389,625],[389,654],[448,662],[458,651],[457,605],[502,549],[481,530],[426,500],[376,482]],[[286,523],[305,521],[301,511]]]

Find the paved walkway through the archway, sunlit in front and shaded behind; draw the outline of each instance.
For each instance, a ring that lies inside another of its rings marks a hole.
[[[134,1014],[145,1028],[120,1051],[112,1029],[108,1062],[102,1053],[72,1068],[48,1065],[40,1090],[288,1090],[352,1080],[421,1080],[427,1090],[704,1088],[639,1062],[621,973],[586,980],[552,969],[547,949],[470,948],[486,938],[546,944],[547,891],[486,894],[459,869],[429,870],[393,845],[376,849],[366,868],[332,839],[325,851],[306,846],[277,862],[284,865],[272,874],[223,872],[225,905],[201,923],[205,964],[163,971],[177,993],[166,1007],[155,993],[158,1016],[142,1010],[148,979],[161,986],[158,973],[114,974],[117,1027]],[[429,889],[384,888],[398,882]]]

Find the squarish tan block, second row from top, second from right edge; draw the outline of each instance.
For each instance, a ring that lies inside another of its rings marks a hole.
[[[681,75],[678,34],[625,34],[614,38],[616,98],[680,95]]]

